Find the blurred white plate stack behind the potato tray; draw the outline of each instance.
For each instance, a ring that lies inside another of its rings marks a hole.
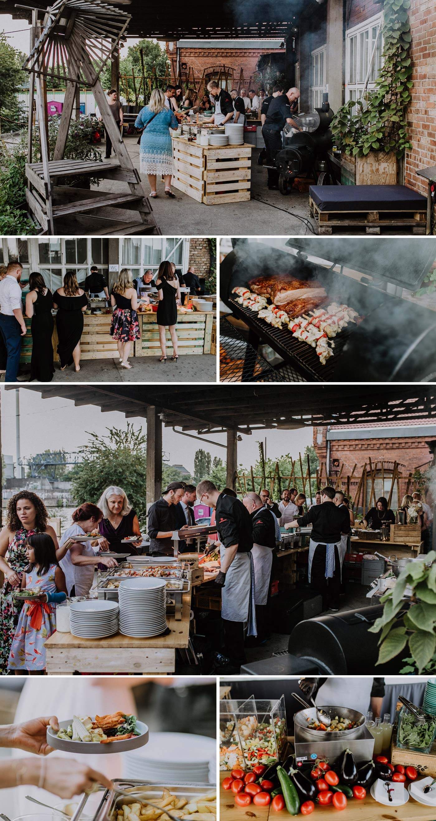
[[[208,784],[216,781],[216,741],[186,732],[150,732],[149,743],[124,753],[123,777],[154,784]]]

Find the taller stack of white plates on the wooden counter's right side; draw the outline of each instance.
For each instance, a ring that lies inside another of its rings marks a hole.
[[[167,585],[164,579],[126,579],[118,588],[120,633],[145,639],[167,629]]]

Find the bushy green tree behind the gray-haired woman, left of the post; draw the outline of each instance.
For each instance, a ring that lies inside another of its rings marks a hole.
[[[82,461],[71,471],[71,495],[76,504],[98,502],[104,488],[115,484],[126,492],[138,514],[140,525],[146,521],[145,479],[147,467],[146,437],[142,429],[108,428],[108,433],[96,438],[89,434],[80,448]]]

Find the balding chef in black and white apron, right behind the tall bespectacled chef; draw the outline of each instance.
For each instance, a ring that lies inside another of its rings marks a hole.
[[[255,607],[258,640],[263,641],[268,632],[268,600],[273,551],[280,540],[277,517],[262,502],[257,493],[246,493],[242,504],[250,513],[253,523],[253,548],[251,555],[255,567]]]

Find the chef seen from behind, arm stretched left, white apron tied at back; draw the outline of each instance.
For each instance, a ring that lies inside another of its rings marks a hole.
[[[309,546],[309,582],[323,597],[323,609],[337,611],[341,593],[341,536],[350,532],[350,513],[345,505],[333,502],[336,491],[321,490],[321,504],[310,507],[304,516],[296,516],[285,525],[305,527],[312,525]]]

